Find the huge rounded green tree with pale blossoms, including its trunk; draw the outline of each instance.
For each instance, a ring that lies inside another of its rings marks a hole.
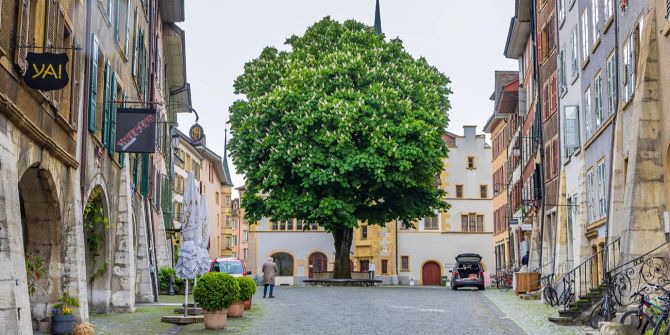
[[[318,223],[350,278],[359,222],[407,226],[448,204],[436,176],[447,147],[449,79],[400,40],[329,17],[265,48],[235,81],[230,153],[246,176],[249,222]]]

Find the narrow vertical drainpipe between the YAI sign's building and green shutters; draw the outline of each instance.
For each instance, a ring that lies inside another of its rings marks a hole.
[[[91,86],[91,4],[93,1],[86,1],[86,28],[84,29],[84,96],[82,97],[82,104],[84,108],[82,108],[82,122],[81,122],[81,164],[79,168],[79,187],[81,188],[81,201],[83,202],[85,200],[85,194],[86,192],[86,161],[87,161],[87,154],[86,154],[86,142],[88,140],[88,99],[89,99],[89,94],[90,94],[90,86]],[[86,204],[82,204],[86,205]]]

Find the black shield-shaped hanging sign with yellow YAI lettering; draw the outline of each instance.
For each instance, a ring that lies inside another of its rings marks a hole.
[[[70,81],[65,67],[67,54],[29,52],[26,61],[28,69],[23,80],[30,88],[40,91],[60,90]]]

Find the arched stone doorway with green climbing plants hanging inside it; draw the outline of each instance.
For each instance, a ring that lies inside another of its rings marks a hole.
[[[86,255],[86,283],[89,308],[96,313],[109,312],[111,282],[110,222],[102,187],[91,191],[84,206],[84,253]]]

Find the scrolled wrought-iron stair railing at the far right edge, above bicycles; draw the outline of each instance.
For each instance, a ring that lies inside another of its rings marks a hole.
[[[627,306],[636,303],[634,292],[644,291],[651,294],[654,286],[670,286],[670,243],[666,242],[651,251],[612,268],[607,275],[611,282],[611,291],[618,305]]]

